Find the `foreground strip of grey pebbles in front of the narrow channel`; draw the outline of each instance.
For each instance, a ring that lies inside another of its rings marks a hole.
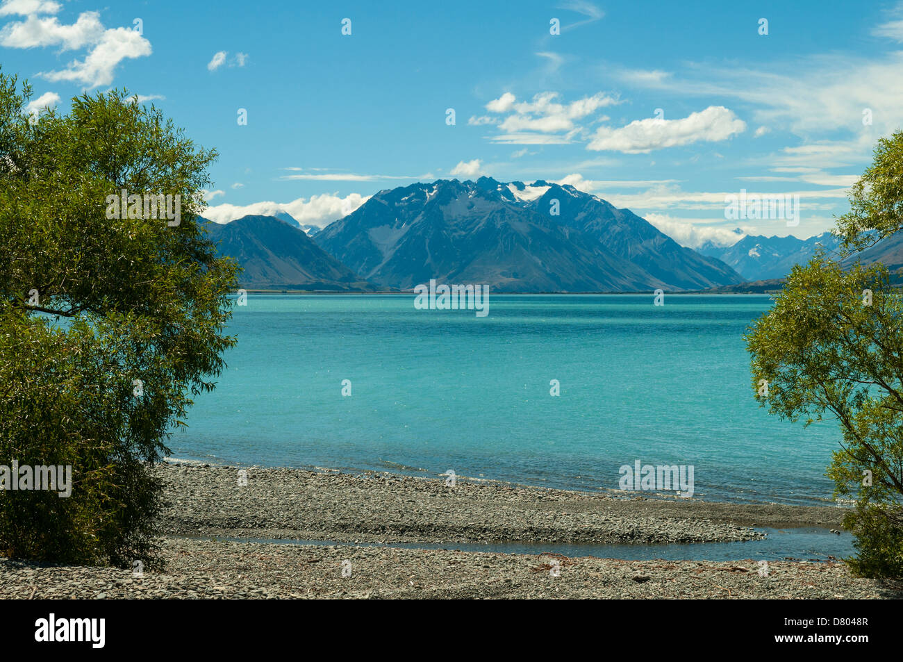
[[[273,545],[169,538],[166,570],[0,561],[5,598],[899,598],[842,564],[620,561],[591,556]],[[344,572],[343,572],[344,571]]]

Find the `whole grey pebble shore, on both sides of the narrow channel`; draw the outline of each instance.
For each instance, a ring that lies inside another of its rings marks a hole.
[[[840,563],[623,561],[455,543],[704,543],[839,508],[617,498],[458,477],[162,465],[165,570],[0,560],[0,598],[899,598]],[[221,538],[237,538],[223,540]],[[275,544],[240,539],[332,541]],[[355,545],[361,543],[362,545]],[[381,546],[409,544],[412,548]],[[416,548],[442,544],[442,549]]]

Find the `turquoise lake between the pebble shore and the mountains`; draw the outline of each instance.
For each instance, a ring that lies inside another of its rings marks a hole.
[[[490,293],[477,317],[416,310],[413,294],[251,293],[172,456],[579,490],[618,489],[639,460],[693,465],[699,499],[830,502],[837,425],[753,398],[742,336],[769,297],[653,299]]]

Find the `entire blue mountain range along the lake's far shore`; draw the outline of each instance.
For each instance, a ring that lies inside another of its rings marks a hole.
[[[308,291],[411,290],[433,278],[521,293],[773,289],[818,247],[839,246],[829,232],[799,239],[738,228],[731,246],[693,250],[572,186],[489,177],[379,191],[322,229],[286,212],[206,227],[244,267],[243,287]],[[903,233],[862,259],[900,268]]]

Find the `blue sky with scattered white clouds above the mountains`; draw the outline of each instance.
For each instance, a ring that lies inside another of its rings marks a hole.
[[[738,225],[805,238],[903,125],[896,2],[4,0],[0,62],[36,112],[113,87],[162,107],[219,150],[219,221],[322,226],[382,189],[488,174],[572,183],[686,246]],[[798,193],[798,227],[725,219],[741,189]]]

